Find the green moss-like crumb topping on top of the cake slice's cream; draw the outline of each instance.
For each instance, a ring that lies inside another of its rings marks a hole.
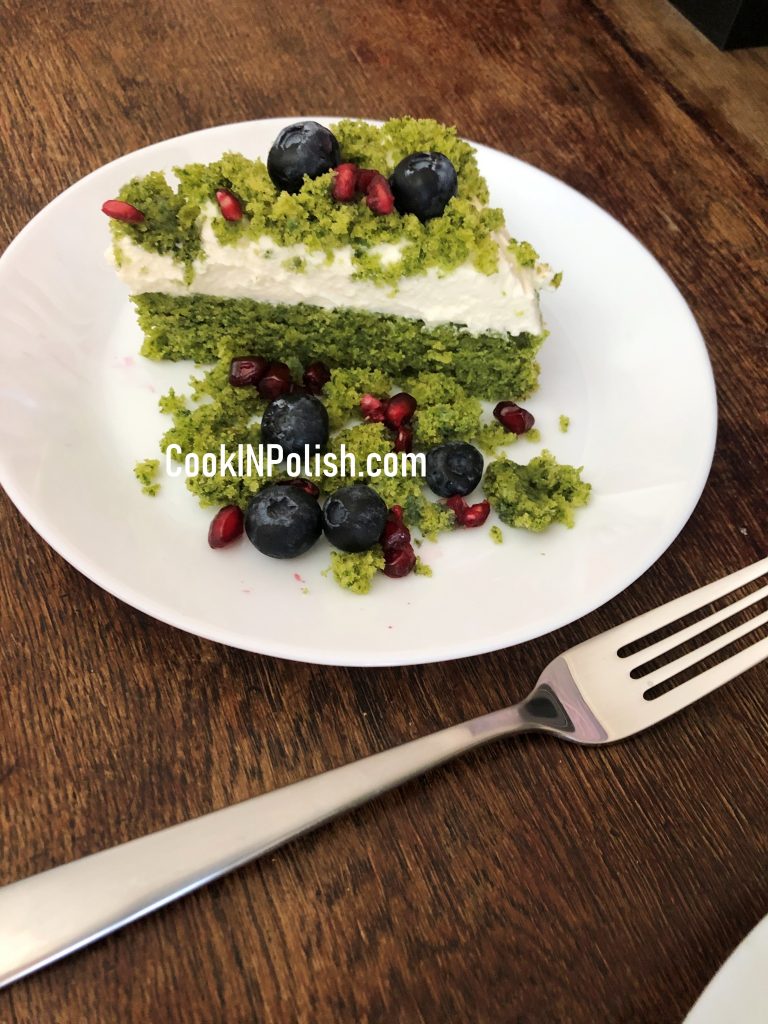
[[[274,186],[263,160],[225,153],[211,164],[174,168],[177,191],[159,172],[128,182],[120,198],[141,210],[144,220],[139,224],[114,221],[116,241],[127,237],[151,252],[171,254],[186,265],[191,278],[193,261],[204,255],[201,211],[213,209],[211,229],[222,245],[269,239],[275,246],[305,246],[310,252],[325,253],[329,260],[337,250],[349,247],[354,276],[390,289],[396,289],[401,278],[430,268],[450,273],[467,262],[480,273],[496,272],[504,214],[487,206],[487,186],[474,151],[455,128],[410,117],[392,118],[381,126],[345,120],[330,127],[339,141],[342,162],[375,168],[385,175],[416,151],[444,154],[457,171],[457,195],[441,216],[424,223],[414,214],[396,211],[377,216],[362,197],[349,203],[333,199],[333,171],[314,180],[305,178],[301,189],[289,195]],[[219,188],[238,197],[244,210],[241,220],[225,220],[218,214],[215,194]],[[396,249],[390,248],[383,258],[381,245]],[[514,247],[520,265],[536,264],[537,254],[527,243],[514,243]],[[119,261],[120,247],[115,251]],[[300,259],[289,263],[291,270],[304,269]]]

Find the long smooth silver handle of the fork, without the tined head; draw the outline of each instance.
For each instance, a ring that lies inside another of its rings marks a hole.
[[[407,779],[530,727],[505,708],[3,886],[0,987]]]

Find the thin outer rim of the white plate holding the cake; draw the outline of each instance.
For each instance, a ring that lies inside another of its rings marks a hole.
[[[182,132],[179,135],[169,136],[168,138],[160,139],[156,142],[151,142],[147,145],[122,154],[121,156],[108,161],[105,164],[94,168],[92,171],[89,171],[87,174],[83,175],[83,177],[78,178],[77,181],[68,185],[67,188],[62,189],[54,196],[52,200],[41,207],[41,209],[38,210],[37,213],[35,213],[14,236],[2,254],[0,254],[0,267],[2,267],[4,262],[7,262],[9,257],[12,258],[15,249],[22,244],[27,234],[35,229],[35,225],[40,218],[46,215],[52,208],[55,208],[57,204],[63,202],[70,193],[82,187],[83,184],[89,181],[92,177],[102,174],[105,170],[114,168],[123,161],[137,156],[150,156],[154,150],[161,148],[169,143],[182,142],[184,139],[193,136],[215,133],[222,129],[240,129],[256,124],[261,126],[269,124],[282,126],[296,120],[310,119],[326,123],[342,120],[342,118],[338,115],[306,115],[301,117],[270,117],[256,118],[246,121],[225,122],[223,124],[210,125],[206,128],[200,128],[189,132]],[[358,120],[365,120],[371,124],[380,125],[383,123],[382,121],[373,118],[360,118]],[[166,607],[165,604],[157,602],[154,598],[150,598],[144,593],[137,591],[130,585],[121,583],[121,581],[116,579],[109,569],[105,570],[102,565],[95,563],[89,556],[83,553],[80,548],[74,547],[65,536],[59,535],[49,519],[46,519],[45,516],[39,516],[37,514],[34,507],[34,501],[28,502],[27,498],[22,494],[22,488],[16,487],[14,482],[9,479],[10,474],[7,471],[3,451],[0,449],[0,484],[2,484],[11,503],[27,520],[30,526],[32,526],[35,532],[38,534],[38,536],[42,538],[42,540],[50,548],[52,548],[59,557],[63,558],[66,562],[68,562],[82,575],[86,577],[86,579],[88,579],[95,586],[104,590],[108,594],[118,600],[124,601],[136,610],[144,614],[148,614],[153,618],[156,618],[167,626],[179,629],[182,632],[200,637],[201,639],[221,643],[225,646],[244,650],[249,653],[280,657],[286,660],[299,662],[302,664],[327,665],[340,668],[396,668],[410,665],[431,665],[441,662],[456,660],[463,657],[475,657],[481,654],[487,654],[498,650],[507,649],[509,647],[518,646],[519,644],[527,643],[530,640],[537,639],[541,636],[546,636],[555,630],[562,629],[571,623],[578,622],[580,618],[590,614],[592,611],[597,610],[608,601],[612,600],[629,586],[639,580],[645,572],[647,572],[647,570],[675,543],[689,521],[707,485],[715,456],[718,433],[717,388],[712,360],[710,358],[709,350],[707,348],[701,330],[685,297],[665,266],[656,259],[647,246],[635,234],[633,234],[632,231],[630,231],[629,228],[622,223],[622,221],[613,216],[613,214],[604,210],[589,196],[579,191],[579,189],[574,188],[566,181],[550,174],[548,171],[542,170],[534,164],[529,164],[512,154],[505,153],[503,150],[497,150],[496,147],[489,146],[485,143],[477,142],[471,139],[467,139],[467,141],[469,141],[470,144],[478,151],[489,152],[496,156],[504,158],[505,160],[515,161],[516,163],[523,165],[525,168],[535,171],[536,174],[543,175],[550,181],[554,182],[558,187],[565,188],[569,193],[572,193],[575,197],[578,197],[579,201],[589,204],[593,215],[610,220],[613,226],[617,227],[623,233],[628,236],[629,240],[631,240],[635,246],[638,246],[643,251],[645,257],[652,261],[656,268],[660,270],[665,278],[667,278],[680,300],[682,310],[687,316],[690,328],[696,338],[700,354],[703,356],[705,367],[709,370],[709,423],[707,425],[707,434],[702,437],[700,465],[698,467],[697,477],[690,486],[688,500],[680,514],[679,521],[676,522],[672,531],[665,534],[659,544],[652,546],[650,556],[642,559],[642,561],[638,563],[639,567],[634,566],[628,574],[622,577],[622,582],[620,584],[613,583],[610,587],[607,587],[606,593],[600,593],[597,595],[597,599],[593,596],[586,602],[583,602],[575,614],[566,613],[564,617],[556,616],[551,624],[545,628],[537,626],[529,632],[524,633],[524,635],[511,641],[509,637],[502,637],[497,634],[493,637],[485,636],[483,642],[480,643],[464,644],[461,647],[441,649],[439,651],[433,651],[423,655],[417,654],[417,656],[414,656],[414,653],[409,653],[408,649],[406,649],[400,650],[399,653],[395,650],[393,654],[386,654],[383,650],[381,652],[377,650],[372,652],[373,656],[369,655],[362,657],[361,654],[355,655],[354,652],[345,653],[341,649],[331,653],[326,649],[313,648],[311,645],[305,645],[299,650],[293,650],[291,645],[282,642],[275,643],[270,641],[268,638],[265,638],[264,642],[259,642],[258,646],[248,644],[245,642],[247,638],[244,637],[240,631],[228,631],[227,629],[222,628],[211,629],[207,627],[203,621],[182,612],[174,611],[173,609]],[[705,396],[702,395],[702,397]]]

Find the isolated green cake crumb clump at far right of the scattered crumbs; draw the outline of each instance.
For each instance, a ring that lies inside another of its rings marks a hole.
[[[506,458],[490,463],[483,488],[502,522],[536,532],[553,522],[572,526],[573,509],[587,504],[592,489],[581,468],[561,466],[547,451],[527,466]]]

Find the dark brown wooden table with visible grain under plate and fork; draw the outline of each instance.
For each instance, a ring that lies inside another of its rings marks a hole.
[[[190,129],[436,117],[658,256],[721,415],[701,502],[640,581],[539,641],[424,668],[197,640],[3,500],[0,883],[508,702],[563,647],[766,552],[765,50],[719,53],[664,0],[0,9],[3,246],[81,175]],[[1,992],[0,1021],[678,1022],[768,911],[767,682],[615,748],[482,750]]]

